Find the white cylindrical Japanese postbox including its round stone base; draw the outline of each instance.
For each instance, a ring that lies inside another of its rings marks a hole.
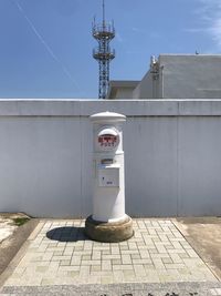
[[[93,123],[93,214],[86,234],[101,242],[133,236],[131,218],[125,214],[125,177],[122,124],[126,116],[113,112],[91,116]]]

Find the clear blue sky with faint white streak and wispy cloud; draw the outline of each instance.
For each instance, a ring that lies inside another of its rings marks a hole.
[[[102,0],[0,0],[0,98],[97,98],[92,20]],[[140,80],[150,55],[221,51],[220,0],[106,0],[110,80]]]

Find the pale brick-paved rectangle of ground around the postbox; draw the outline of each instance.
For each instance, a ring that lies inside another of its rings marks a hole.
[[[118,244],[87,239],[84,221],[40,226],[4,286],[218,282],[170,220],[134,220]]]

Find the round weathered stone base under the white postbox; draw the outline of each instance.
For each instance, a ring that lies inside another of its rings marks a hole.
[[[119,243],[134,235],[133,220],[126,216],[120,222],[99,222],[92,215],[86,218],[85,234],[93,241],[103,243]]]

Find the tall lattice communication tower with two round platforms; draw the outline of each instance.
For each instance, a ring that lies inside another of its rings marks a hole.
[[[109,62],[115,58],[115,50],[112,50],[109,42],[115,38],[114,22],[107,23],[105,20],[105,1],[103,0],[103,22],[92,24],[92,34],[98,42],[98,47],[93,50],[93,58],[99,64],[98,98],[105,99],[109,86]]]

